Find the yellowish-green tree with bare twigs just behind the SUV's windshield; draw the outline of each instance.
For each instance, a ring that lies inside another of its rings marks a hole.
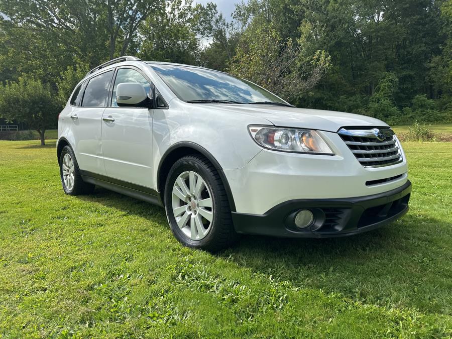
[[[265,6],[263,9],[253,14],[229,71],[294,100],[326,74],[330,57],[320,50],[307,55],[296,41],[284,39],[268,17],[269,9]]]

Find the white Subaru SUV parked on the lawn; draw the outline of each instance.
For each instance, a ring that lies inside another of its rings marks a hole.
[[[385,123],[295,108],[247,80],[121,57],[91,70],[58,119],[63,189],[94,185],[164,206],[207,250],[237,234],[348,236],[408,210],[402,147]]]

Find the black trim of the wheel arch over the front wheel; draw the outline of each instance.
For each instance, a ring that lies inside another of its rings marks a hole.
[[[172,145],[160,159],[160,163],[157,169],[157,189],[160,193],[162,201],[164,201],[165,197],[165,182],[167,177],[166,174],[178,159],[189,154],[200,154],[204,156],[215,167],[224,185],[231,211],[235,212],[236,204],[234,202],[234,197],[231,191],[231,187],[229,186],[228,179],[224,175],[222,167],[213,157],[213,155],[211,155],[205,148],[193,142],[179,142]]]

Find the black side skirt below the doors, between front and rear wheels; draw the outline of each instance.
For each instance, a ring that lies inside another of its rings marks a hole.
[[[159,192],[152,188],[80,170],[83,181],[163,207]]]

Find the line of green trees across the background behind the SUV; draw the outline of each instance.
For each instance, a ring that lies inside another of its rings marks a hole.
[[[121,55],[228,71],[299,107],[452,122],[452,0],[249,0],[232,21],[192,0],[0,0],[0,12],[0,118],[42,139],[86,72]]]

